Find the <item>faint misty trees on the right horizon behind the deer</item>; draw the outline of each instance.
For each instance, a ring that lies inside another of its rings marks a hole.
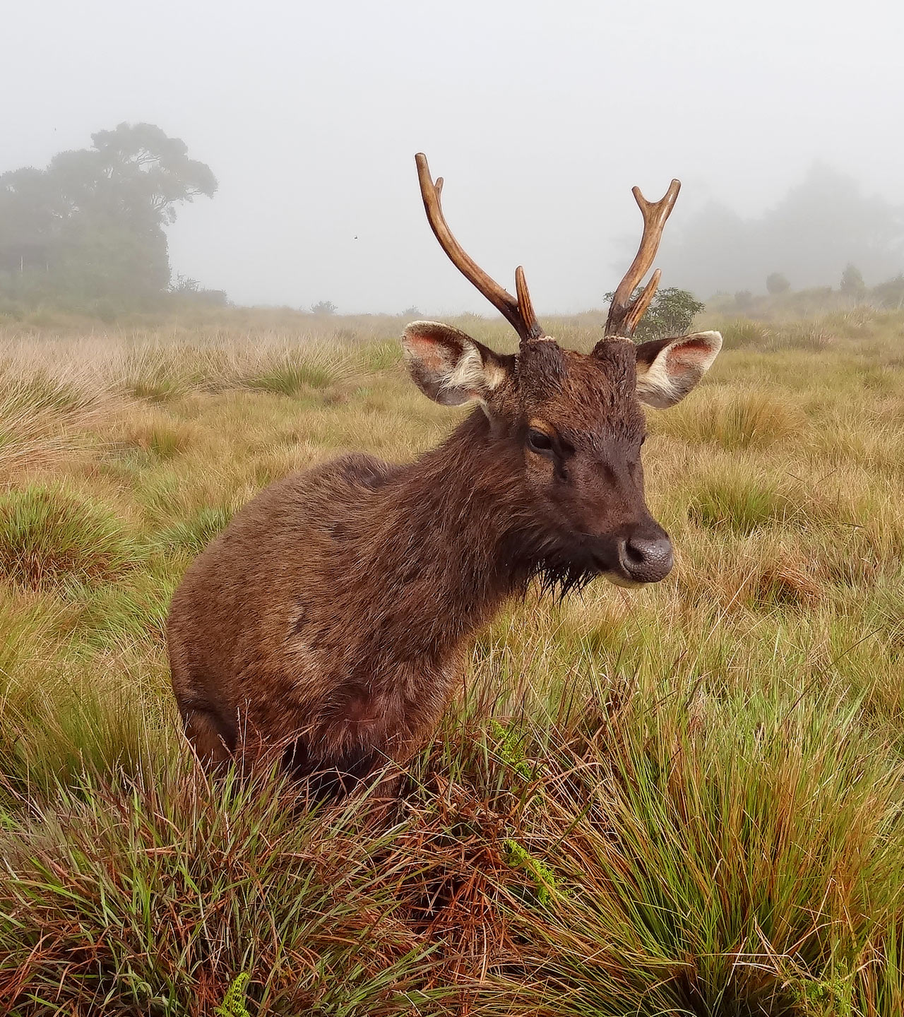
[[[864,279],[873,287],[888,280],[894,290],[904,272],[904,207],[863,194],[853,178],[822,164],[758,219],[711,203],[676,233],[663,271],[704,297],[762,292],[764,280],[772,295],[792,283],[834,286],[849,264],[864,290]],[[846,292],[856,285],[850,281]]]

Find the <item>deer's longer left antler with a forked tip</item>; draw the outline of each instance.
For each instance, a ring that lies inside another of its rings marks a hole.
[[[451,263],[461,274],[472,283],[489,302],[499,311],[521,337],[522,343],[528,343],[535,339],[545,338],[537,315],[534,313],[534,305],[531,303],[531,295],[528,292],[528,284],[525,280],[524,268],[519,265],[515,270],[515,289],[518,297],[511,294],[494,282],[480,267],[480,265],[465,251],[464,247],[453,236],[451,230],[442,215],[440,195],[442,194],[442,177],[437,177],[433,182],[430,176],[430,168],[427,166],[427,157],[419,152],[414,157],[418,167],[418,179],[421,182],[421,196],[424,199],[424,208],[427,213],[427,222],[439,246],[448,255]]]

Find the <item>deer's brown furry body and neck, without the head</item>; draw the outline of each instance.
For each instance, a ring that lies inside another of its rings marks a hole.
[[[463,644],[518,582],[498,558],[523,513],[494,497],[471,440],[485,424],[409,466],[351,456],[288,477],[197,558],[168,635],[203,758],[269,743],[299,772],[356,776],[423,742]]]

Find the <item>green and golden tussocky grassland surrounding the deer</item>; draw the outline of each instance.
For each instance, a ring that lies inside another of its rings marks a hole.
[[[904,315],[706,323],[674,574],[513,604],[390,825],[205,782],[163,623],[261,486],[454,426],[402,322],[0,325],[0,1012],[904,1012]]]

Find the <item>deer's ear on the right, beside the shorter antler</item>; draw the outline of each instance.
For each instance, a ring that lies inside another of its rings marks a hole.
[[[637,348],[638,399],[659,410],[674,406],[706,374],[721,349],[718,332],[641,343]]]

